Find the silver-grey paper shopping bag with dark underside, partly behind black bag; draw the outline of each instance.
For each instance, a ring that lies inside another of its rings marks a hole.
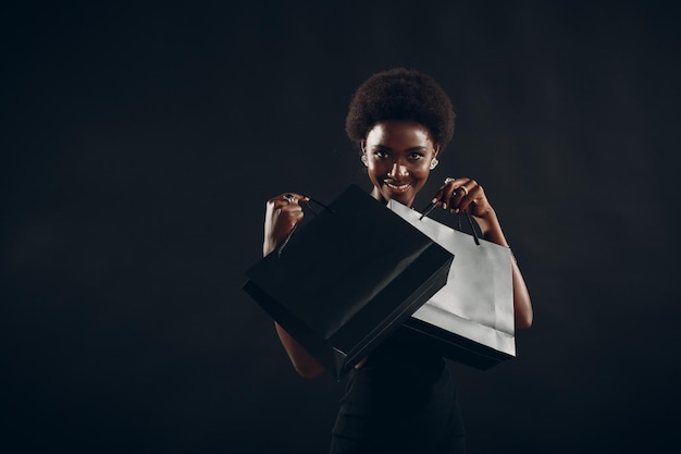
[[[455,255],[447,284],[396,333],[443,356],[488,369],[516,356],[511,255],[397,201],[389,209]],[[470,219],[470,218],[469,218]]]

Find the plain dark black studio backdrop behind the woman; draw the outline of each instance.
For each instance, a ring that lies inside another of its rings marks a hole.
[[[396,65],[458,115],[422,200],[479,180],[535,307],[449,364],[470,452],[678,449],[678,7],[91,3],[2,7],[3,452],[325,452],[344,382],[240,287],[268,198],[370,188],[345,113]]]

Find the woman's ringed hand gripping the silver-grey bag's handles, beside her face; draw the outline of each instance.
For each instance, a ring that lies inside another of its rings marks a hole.
[[[482,186],[475,180],[466,176],[446,179],[432,201],[453,212],[468,211],[482,219],[494,212]]]

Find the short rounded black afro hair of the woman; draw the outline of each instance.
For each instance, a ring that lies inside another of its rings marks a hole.
[[[428,74],[406,68],[375,73],[355,91],[345,131],[360,143],[380,121],[413,120],[425,125],[441,148],[454,135],[454,108],[447,94]]]

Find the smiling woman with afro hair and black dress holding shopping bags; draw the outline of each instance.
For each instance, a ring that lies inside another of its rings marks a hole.
[[[394,69],[369,77],[357,89],[346,119],[348,137],[373,184],[371,195],[411,206],[454,134],[454,110],[429,75]],[[299,194],[268,201],[263,254],[285,241],[302,219]],[[508,246],[482,186],[469,177],[447,179],[433,197],[453,212],[468,211],[485,240]],[[532,324],[532,305],[512,260],[516,329]],[[317,377],[323,367],[275,324],[294,367]],[[445,361],[433,352],[387,340],[350,372],[333,429],[331,452],[462,453],[463,425]]]

